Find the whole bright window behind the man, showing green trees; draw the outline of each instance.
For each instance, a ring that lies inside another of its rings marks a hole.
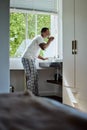
[[[42,27],[48,27],[53,43],[47,50],[40,52],[45,57],[58,57],[58,15],[41,13],[10,13],[10,57],[21,57],[32,38],[40,34]]]

